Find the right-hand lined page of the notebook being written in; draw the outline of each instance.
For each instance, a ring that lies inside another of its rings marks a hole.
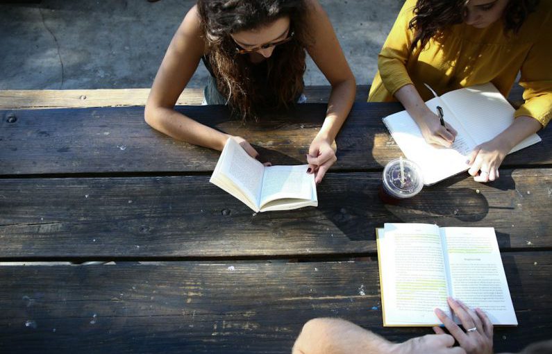
[[[515,109],[492,83],[447,92],[441,99],[476,145],[492,140],[514,121]],[[510,153],[540,141],[538,135],[530,135]]]

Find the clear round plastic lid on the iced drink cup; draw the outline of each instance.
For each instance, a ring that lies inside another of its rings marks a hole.
[[[396,198],[410,198],[424,187],[424,176],[414,162],[398,158],[389,162],[383,169],[383,187]]]

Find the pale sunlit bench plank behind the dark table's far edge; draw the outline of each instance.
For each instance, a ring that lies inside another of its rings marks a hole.
[[[370,85],[356,87],[356,102],[366,102]],[[331,86],[306,86],[309,103],[326,103]],[[508,99],[515,105],[523,101],[523,87],[515,85]],[[44,109],[145,106],[149,89],[107,90],[0,90],[0,109]],[[185,88],[176,101],[177,106],[197,106],[203,102],[203,89]]]

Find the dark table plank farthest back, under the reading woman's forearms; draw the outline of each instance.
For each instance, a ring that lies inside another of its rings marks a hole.
[[[232,135],[245,137],[265,160],[278,165],[305,162],[326,105],[299,105],[285,117],[243,125],[222,106],[185,106],[181,112]],[[381,169],[401,151],[381,118],[399,103],[356,103],[337,137],[333,170]],[[0,175],[98,172],[174,172],[214,169],[217,151],[178,142],[153,130],[143,108],[82,108],[0,111]],[[504,167],[552,163],[552,131],[543,142],[509,155]]]

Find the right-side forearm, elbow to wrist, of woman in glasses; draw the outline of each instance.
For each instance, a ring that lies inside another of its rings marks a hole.
[[[326,119],[320,128],[317,137],[322,137],[328,142],[333,142],[341,126],[351,111],[355,101],[356,83],[354,78],[343,81],[332,87],[330,98],[328,99],[328,110]]]

